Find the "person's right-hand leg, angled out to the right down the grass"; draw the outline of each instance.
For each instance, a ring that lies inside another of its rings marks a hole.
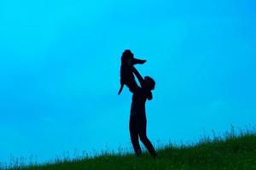
[[[143,144],[146,146],[147,150],[149,151],[150,155],[154,158],[156,157],[156,153],[154,150],[153,144],[151,144],[150,140],[147,137],[147,120],[146,116],[140,117],[140,123],[139,123],[139,137]]]

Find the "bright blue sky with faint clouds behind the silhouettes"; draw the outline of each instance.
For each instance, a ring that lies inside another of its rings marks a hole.
[[[154,77],[148,137],[195,141],[256,122],[256,3],[0,2],[0,160],[131,149],[120,55]]]

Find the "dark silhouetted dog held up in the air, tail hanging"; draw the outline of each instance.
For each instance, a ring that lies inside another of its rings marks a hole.
[[[120,83],[119,94],[121,94],[124,85],[126,85],[133,93],[137,88],[135,77],[132,73],[133,65],[145,63],[145,59],[135,59],[130,49],[126,49],[121,57],[121,69],[120,69]]]

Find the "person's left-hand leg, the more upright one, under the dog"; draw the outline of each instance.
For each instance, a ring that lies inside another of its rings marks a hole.
[[[137,156],[140,156],[142,154],[142,150],[138,140],[137,116],[130,116],[129,129],[133,150],[135,151]]]

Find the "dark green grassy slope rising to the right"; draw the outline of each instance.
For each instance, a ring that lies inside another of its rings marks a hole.
[[[164,146],[154,160],[148,153],[137,158],[133,154],[102,154],[76,161],[59,161],[38,166],[14,167],[12,170],[79,170],[79,169],[256,169],[256,133],[234,132],[224,138],[201,139],[197,144]]]

